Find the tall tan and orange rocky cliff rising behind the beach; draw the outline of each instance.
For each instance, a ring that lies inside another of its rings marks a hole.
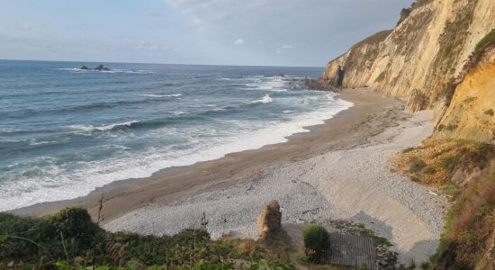
[[[370,86],[407,99],[410,112],[434,109],[438,138],[495,143],[495,53],[487,49],[473,61],[477,45],[493,29],[495,1],[420,0],[395,29],[330,61],[322,78],[335,85],[342,67],[343,87]]]

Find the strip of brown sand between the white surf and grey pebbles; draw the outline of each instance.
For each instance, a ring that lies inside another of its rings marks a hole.
[[[359,92],[345,89],[338,94],[338,98],[355,103],[355,105],[338,112],[334,117],[325,120],[323,124],[306,127],[309,132],[296,133],[287,137],[286,142],[233,152],[225,157],[197,162],[190,166],[167,167],[158,170],[149,177],[130,178],[106,184],[96,188],[92,193],[75,199],[40,202],[8,212],[23,216],[43,216],[67,206],[77,206],[87,209],[95,217],[98,201],[103,194],[104,223],[106,220],[112,220],[143,206],[175,202],[195,193],[209,191],[211,188],[226,187],[242,182],[246,178],[245,170],[261,172],[270,165],[291,163],[295,160],[317,156],[329,150],[354,148],[365,143],[365,138],[374,136],[385,128],[393,126],[393,121],[396,120],[391,118],[388,121],[383,121],[381,126],[364,129],[361,120],[365,118],[366,114],[372,115],[381,112],[383,108],[393,108],[393,110],[401,112],[403,107],[398,100],[385,98],[381,94],[375,94],[366,89],[360,89]],[[380,107],[376,107],[376,105],[380,105]],[[401,117],[405,117],[405,113]],[[351,126],[355,126],[355,128],[351,128]],[[353,137],[347,137],[349,132],[356,134],[353,134]],[[252,160],[251,157],[257,157],[257,159]],[[241,164],[248,167],[241,166]],[[228,170],[224,166],[229,166],[230,169]],[[221,169],[216,170],[219,167]],[[207,173],[202,174],[202,172]],[[232,177],[241,174],[242,177]],[[251,172],[251,175],[255,174]],[[175,181],[176,179],[179,181]],[[227,179],[228,181],[226,181]],[[176,184],[176,182],[181,184]],[[167,191],[158,193],[156,187],[160,191],[164,189]],[[126,200],[120,199],[123,197]]]

